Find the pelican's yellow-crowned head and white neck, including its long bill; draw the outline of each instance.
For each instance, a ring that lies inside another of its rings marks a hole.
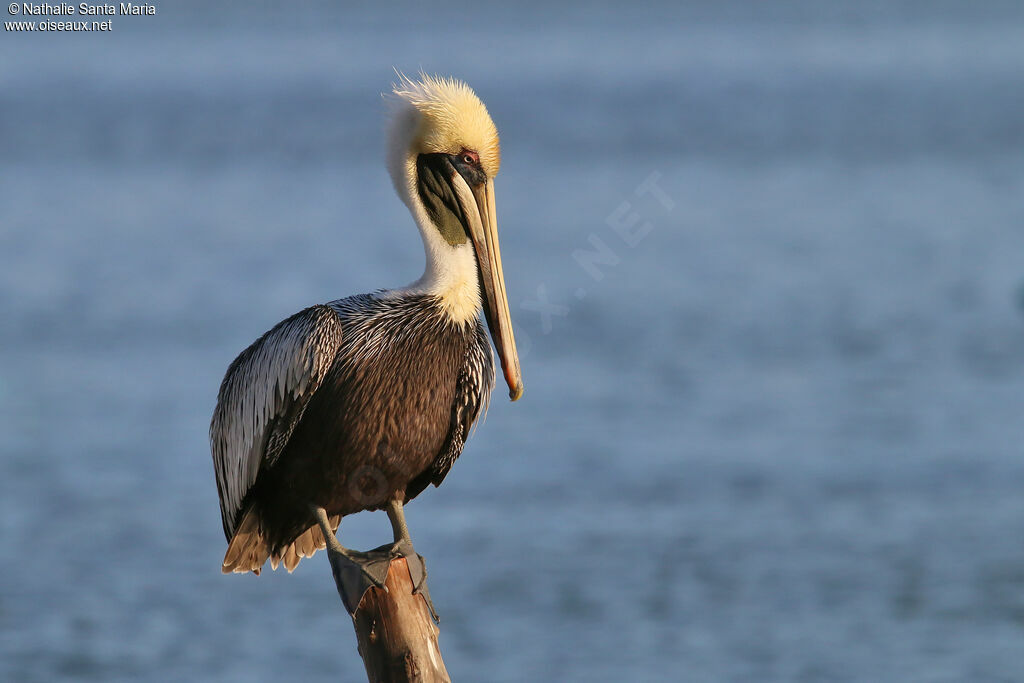
[[[399,74],[394,100],[388,171],[427,253],[426,272],[411,289],[438,296],[460,323],[482,306],[509,396],[516,400],[522,375],[495,213],[498,129],[476,93],[454,79]]]

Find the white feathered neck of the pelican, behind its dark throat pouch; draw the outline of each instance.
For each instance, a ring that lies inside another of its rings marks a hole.
[[[453,247],[430,220],[416,189],[416,154],[413,141],[419,127],[419,115],[413,109],[394,117],[388,151],[388,171],[398,197],[409,207],[420,236],[427,264],[423,275],[412,285],[391,290],[389,294],[430,294],[436,296],[453,322],[462,324],[477,317],[482,308],[480,284],[473,245],[467,240]]]

